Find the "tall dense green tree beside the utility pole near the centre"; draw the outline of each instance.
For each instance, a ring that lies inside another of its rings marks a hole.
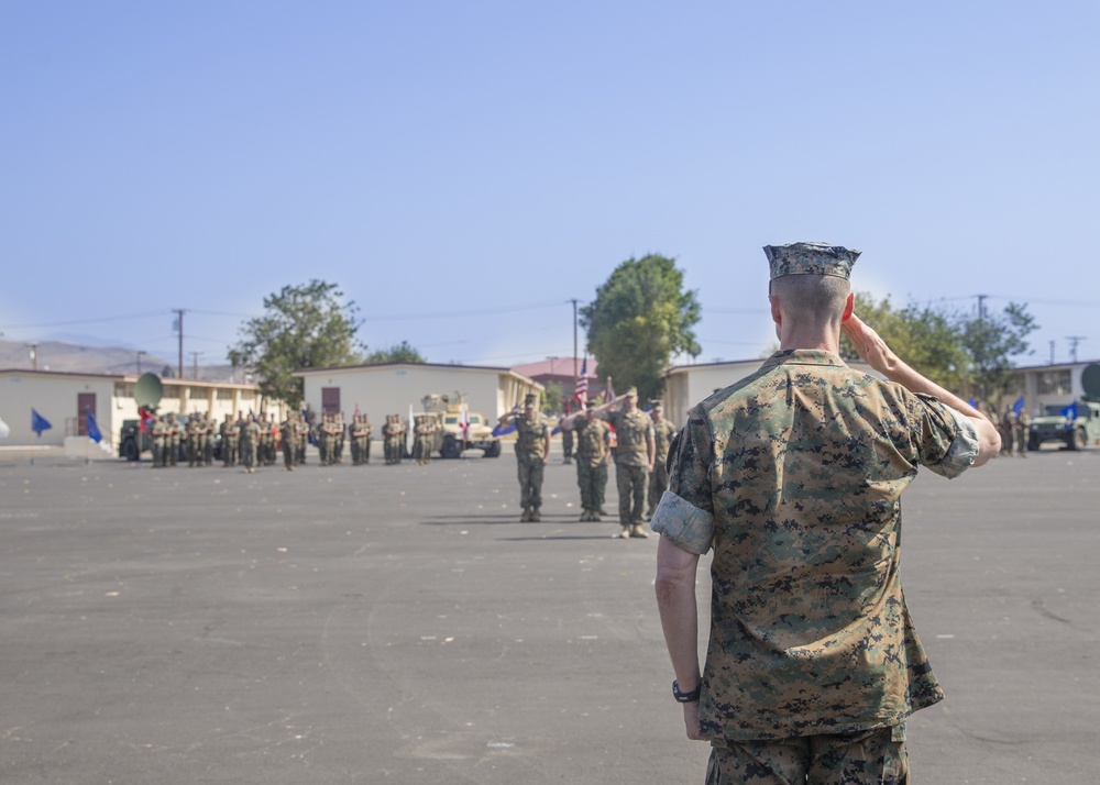
[[[596,299],[581,309],[581,324],[601,379],[610,376],[620,393],[634,385],[645,400],[661,395],[673,355],[700,354],[692,332],[700,316],[695,292],[684,291],[675,262],[651,254],[616,267]]]

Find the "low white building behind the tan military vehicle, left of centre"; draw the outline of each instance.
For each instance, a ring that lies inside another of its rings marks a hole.
[[[528,393],[542,385],[508,368],[433,363],[386,363],[302,368],[294,372],[305,383],[305,401],[314,411],[343,412],[345,419],[359,409],[380,423],[386,414],[422,411],[425,396],[464,397],[471,411],[494,422],[505,411],[524,402]],[[375,433],[375,438],[381,435]]]

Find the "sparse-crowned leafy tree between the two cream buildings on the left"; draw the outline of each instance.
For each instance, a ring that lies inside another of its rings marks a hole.
[[[284,286],[264,298],[264,314],[241,325],[231,356],[250,366],[264,397],[298,409],[302,382],[296,368],[323,368],[360,362],[355,342],[355,305],[342,301],[336,284],[310,280]]]

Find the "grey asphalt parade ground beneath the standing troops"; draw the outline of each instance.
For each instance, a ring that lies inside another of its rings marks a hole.
[[[255,474],[0,455],[0,782],[702,783],[656,538],[578,522],[560,452],[520,523],[510,445],[480,455]],[[909,722],[913,782],[1091,782],[1100,451],[922,472],[903,508],[947,693]]]

